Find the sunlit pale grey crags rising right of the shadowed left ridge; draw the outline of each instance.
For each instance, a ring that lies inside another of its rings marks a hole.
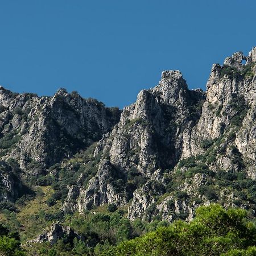
[[[241,187],[233,193],[223,179],[256,175],[255,54],[236,52],[214,64],[206,93],[189,90],[179,71],[164,71],[98,142],[98,171],[85,187],[69,189],[64,210],[130,202],[131,220],[189,220],[212,201],[254,208],[240,198]]]

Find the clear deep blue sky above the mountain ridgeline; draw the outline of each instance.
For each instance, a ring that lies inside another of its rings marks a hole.
[[[0,0],[0,84],[120,108],[166,69],[205,89],[213,63],[256,46],[255,10],[255,0]]]

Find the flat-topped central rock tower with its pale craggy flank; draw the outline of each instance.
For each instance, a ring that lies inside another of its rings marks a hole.
[[[97,174],[76,193],[75,208],[69,207],[68,197],[64,210],[121,206],[133,193],[143,196],[144,190],[135,191],[139,183],[161,181],[164,170],[179,161],[184,129],[195,126],[204,98],[203,91],[188,89],[179,71],[164,71],[159,85],[142,90],[135,104],[123,110],[118,125],[98,143],[94,152],[95,157],[101,155]]]

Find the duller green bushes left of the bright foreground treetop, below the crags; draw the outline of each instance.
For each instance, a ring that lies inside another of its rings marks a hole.
[[[129,221],[122,210],[112,213],[112,210],[106,208],[99,208],[99,212],[85,212],[84,215],[76,213],[65,217],[64,225],[71,226],[85,237],[85,241],[78,241],[77,238],[71,241],[64,237],[52,246],[43,243],[28,247],[28,252],[39,255],[100,255],[102,251],[123,241],[169,225],[166,221]]]

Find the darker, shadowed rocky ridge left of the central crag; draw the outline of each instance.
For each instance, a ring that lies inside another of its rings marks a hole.
[[[112,130],[121,113],[65,89],[53,97],[38,97],[1,87],[0,102],[0,180],[6,194],[2,197],[12,201],[14,180],[20,187],[23,181],[47,175],[53,164],[71,158]]]

